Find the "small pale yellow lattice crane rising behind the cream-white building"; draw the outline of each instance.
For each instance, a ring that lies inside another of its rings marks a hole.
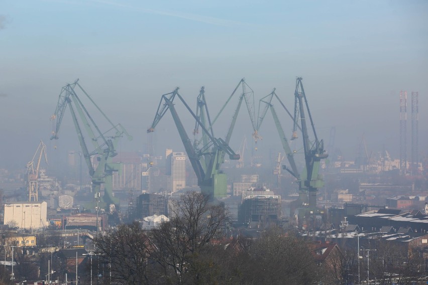
[[[45,159],[48,164],[46,156],[46,145],[40,140],[39,147],[33,156],[33,159],[27,163],[27,179],[28,179],[28,201],[39,201],[39,168],[42,159]]]

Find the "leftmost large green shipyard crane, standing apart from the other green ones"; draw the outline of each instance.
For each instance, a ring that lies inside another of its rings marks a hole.
[[[112,193],[113,173],[120,172],[122,167],[121,163],[114,163],[112,158],[117,155],[116,148],[119,139],[126,135],[129,140],[132,140],[132,136],[121,124],[114,124],[104,114],[104,112],[101,111],[98,105],[95,104],[92,98],[80,86],[78,81],[79,79],[75,80],[72,84],[65,85],[61,89],[55,113],[51,117],[51,120],[53,120],[53,131],[51,139],[59,138],[58,132],[65,110],[68,106],[73,119],[74,127],[77,132],[77,137],[82,149],[83,157],[89,169],[89,176],[92,182],[92,192],[95,194],[95,197],[99,197],[100,188],[101,185],[103,185],[104,195],[100,201],[101,206],[108,209],[110,204],[115,204],[116,207],[119,207],[119,200],[113,197]],[[77,89],[76,87],[78,87],[78,89],[83,92],[83,94],[90,100],[93,106],[95,106],[95,108],[99,111],[102,117],[108,121],[111,126],[110,129],[104,132],[100,130],[92,116],[89,114],[87,108],[83,105],[81,98],[75,92]],[[80,118],[80,122],[78,118]],[[86,130],[86,135],[92,143],[91,149],[89,149],[86,144],[81,126],[83,126]]]

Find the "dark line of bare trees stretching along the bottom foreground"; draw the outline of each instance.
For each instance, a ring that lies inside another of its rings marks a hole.
[[[143,230],[138,223],[121,224],[95,236],[92,257],[96,262],[79,269],[80,284],[90,283],[91,269],[97,276],[94,283],[106,285],[346,285],[367,280],[404,285],[422,283],[425,276],[423,252],[392,242],[373,240],[360,254],[355,248],[330,246],[328,258],[320,259],[323,252],[318,251],[325,249],[313,240],[277,227],[260,232],[259,238],[230,238],[227,210],[200,193],[189,192],[171,201],[169,210],[169,221],[151,230]],[[18,249],[16,276],[35,280],[38,269],[40,276],[47,272],[52,257],[43,248],[59,248],[62,241],[55,236],[44,238],[38,240],[36,256]],[[56,266],[58,273],[65,273],[65,266]],[[0,284],[12,284],[1,268],[0,280]]]

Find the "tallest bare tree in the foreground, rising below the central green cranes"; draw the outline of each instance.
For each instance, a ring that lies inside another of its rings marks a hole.
[[[207,252],[211,242],[224,237],[226,220],[225,208],[201,193],[188,192],[173,201],[170,221],[151,231],[152,257],[162,268],[158,281],[203,283],[202,276],[212,269]]]

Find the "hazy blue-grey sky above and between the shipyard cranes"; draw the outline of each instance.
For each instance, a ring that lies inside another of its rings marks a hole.
[[[52,156],[54,146],[58,153],[79,150],[69,111],[61,138],[49,141],[61,87],[76,78],[134,136],[123,140],[121,151],[145,149],[160,96],[176,86],[193,107],[204,85],[213,116],[245,77],[257,100],[276,87],[291,110],[301,76],[318,136],[328,144],[335,126],[335,145],[350,160],[363,133],[369,151],[385,146],[398,156],[399,91],[409,98],[418,91],[419,151],[426,153],[424,0],[1,0],[0,67],[0,167],[24,168],[40,139]],[[217,136],[225,135],[237,100],[225,110]],[[252,133],[244,111],[231,142],[235,150]],[[291,135],[292,124],[283,118]],[[270,114],[261,135],[262,148],[281,151]],[[159,153],[183,150],[169,114],[156,141]]]

